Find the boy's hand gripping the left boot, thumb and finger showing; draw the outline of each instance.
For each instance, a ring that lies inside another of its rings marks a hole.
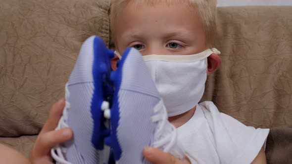
[[[51,107],[49,118],[41,130],[30,154],[32,164],[53,164],[50,149],[72,138],[73,132],[70,128],[55,130],[62,116],[64,104],[64,99],[61,99]]]

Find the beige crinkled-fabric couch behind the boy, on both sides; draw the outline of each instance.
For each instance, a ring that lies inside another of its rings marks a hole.
[[[26,156],[91,35],[113,47],[110,0],[1,0],[0,143]],[[204,100],[242,123],[271,128],[270,164],[292,163],[292,6],[220,7],[220,69]]]

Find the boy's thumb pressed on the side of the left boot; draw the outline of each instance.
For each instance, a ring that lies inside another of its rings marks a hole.
[[[69,127],[43,133],[35,143],[34,153],[36,157],[48,155],[50,149],[57,144],[69,141],[73,132]]]

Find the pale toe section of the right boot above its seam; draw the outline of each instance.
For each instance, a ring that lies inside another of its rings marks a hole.
[[[159,97],[141,53],[135,48],[127,49],[122,60],[121,88]]]

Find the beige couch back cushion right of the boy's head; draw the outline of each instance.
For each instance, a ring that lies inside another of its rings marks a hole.
[[[222,65],[203,100],[245,125],[292,127],[292,6],[219,7]]]

